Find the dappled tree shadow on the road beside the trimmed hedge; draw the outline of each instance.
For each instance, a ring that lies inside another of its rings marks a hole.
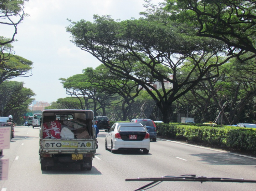
[[[215,165],[256,165],[256,159],[233,155],[229,153],[201,153],[191,154],[199,157],[201,162]]]

